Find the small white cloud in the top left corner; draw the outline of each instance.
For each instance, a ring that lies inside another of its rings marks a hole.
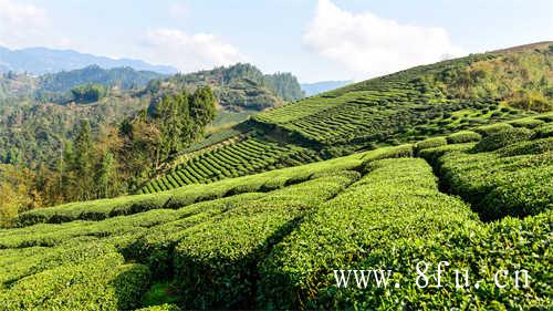
[[[49,23],[46,12],[39,7],[0,0],[0,43],[3,45],[36,45],[36,39],[43,37]]]

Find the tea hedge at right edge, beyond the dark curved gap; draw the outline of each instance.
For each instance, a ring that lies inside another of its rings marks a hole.
[[[540,139],[494,153],[450,151],[437,157],[441,154],[435,151],[426,156],[432,158],[448,191],[469,200],[484,219],[497,219],[536,215],[553,207],[550,149],[551,141]]]

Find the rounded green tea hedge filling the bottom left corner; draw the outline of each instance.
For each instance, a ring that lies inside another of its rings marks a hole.
[[[123,257],[109,245],[97,245],[90,257],[72,253],[74,247],[34,258],[41,260],[27,267],[28,274],[10,280],[0,290],[1,310],[131,310],[139,307],[139,297],[149,284],[149,270],[142,265],[125,265]],[[84,250],[94,250],[91,245]],[[54,260],[55,263],[50,262]],[[18,262],[11,269],[22,269]],[[36,266],[38,265],[38,266]],[[39,269],[42,265],[42,269]],[[2,267],[2,269],[6,269]]]

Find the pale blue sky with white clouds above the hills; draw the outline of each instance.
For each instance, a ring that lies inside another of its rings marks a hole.
[[[553,40],[551,0],[0,0],[0,44],[362,80]]]

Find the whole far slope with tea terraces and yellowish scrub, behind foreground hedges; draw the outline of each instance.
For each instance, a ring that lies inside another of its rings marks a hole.
[[[234,137],[220,135],[207,148],[200,145],[167,163],[143,190],[242,176],[552,111],[552,45],[418,66],[262,112],[236,126]],[[258,157],[242,149],[251,137],[281,149],[265,149],[269,156]],[[298,152],[291,156],[291,149]]]

